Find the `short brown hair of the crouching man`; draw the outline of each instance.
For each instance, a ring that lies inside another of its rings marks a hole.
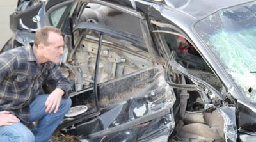
[[[39,44],[49,45],[48,43],[48,34],[52,31],[61,35],[61,30],[54,26],[44,26],[41,29],[38,29],[35,34],[34,45],[37,47]]]

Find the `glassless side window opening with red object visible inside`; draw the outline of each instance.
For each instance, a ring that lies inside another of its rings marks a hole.
[[[158,24],[163,27],[155,27],[156,30],[153,32],[155,36],[158,37],[157,40],[161,43],[166,54],[165,56],[170,57],[171,52],[175,52],[175,54],[177,54],[175,61],[186,68],[190,74],[211,84],[217,90],[220,90],[222,85],[221,81],[214,75],[211,68],[198,53],[189,38],[180,33],[177,28],[168,28],[168,24],[164,25],[160,22]]]

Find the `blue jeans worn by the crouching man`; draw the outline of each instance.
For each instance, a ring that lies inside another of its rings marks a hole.
[[[64,115],[71,106],[71,99],[62,99],[57,113],[45,113],[45,101],[49,95],[38,95],[29,105],[30,122],[39,120],[33,130],[29,130],[26,125],[13,123],[0,127],[0,142],[8,141],[47,141],[56,127],[58,127]]]

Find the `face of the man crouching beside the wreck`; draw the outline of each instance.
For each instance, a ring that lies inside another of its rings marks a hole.
[[[64,52],[64,41],[62,36],[50,31],[48,35],[48,43],[49,45],[44,45],[44,58],[53,63],[59,63]]]

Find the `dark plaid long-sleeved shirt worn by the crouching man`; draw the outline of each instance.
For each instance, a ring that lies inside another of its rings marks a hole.
[[[11,111],[29,123],[29,104],[36,95],[44,93],[44,83],[51,90],[61,88],[65,91],[63,97],[68,97],[67,78],[54,63],[39,64],[31,47],[17,47],[0,54],[0,111]]]

